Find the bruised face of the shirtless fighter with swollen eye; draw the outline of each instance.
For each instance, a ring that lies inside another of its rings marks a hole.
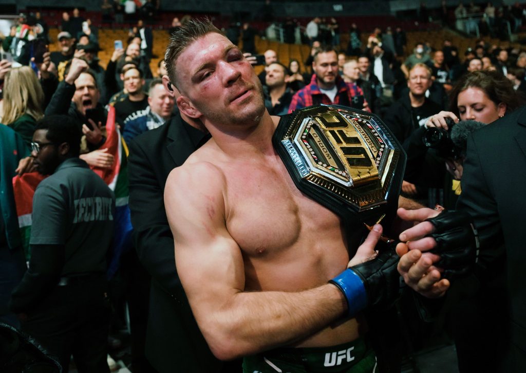
[[[179,109],[213,125],[257,124],[265,112],[259,78],[237,46],[209,33],[177,58]],[[188,110],[186,110],[188,109]]]

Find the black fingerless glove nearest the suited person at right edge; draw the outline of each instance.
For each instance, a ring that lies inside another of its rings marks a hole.
[[[469,273],[479,250],[479,236],[471,216],[464,211],[444,211],[426,221],[435,228],[429,237],[437,241],[437,248],[431,252],[440,256],[435,265],[444,269],[442,277],[453,279]]]

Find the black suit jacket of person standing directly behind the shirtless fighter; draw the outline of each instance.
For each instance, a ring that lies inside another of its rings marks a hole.
[[[204,137],[177,113],[129,144],[129,206],[135,247],[151,274],[146,357],[161,373],[217,372],[222,366],[201,335],[177,276],[174,238],[164,207],[168,174],[186,161]]]

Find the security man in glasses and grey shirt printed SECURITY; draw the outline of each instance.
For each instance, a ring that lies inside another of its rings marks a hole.
[[[78,158],[82,133],[67,115],[41,119],[33,135],[36,171],[50,175],[33,198],[31,259],[10,307],[22,330],[68,371],[108,372],[106,255],[115,196]]]

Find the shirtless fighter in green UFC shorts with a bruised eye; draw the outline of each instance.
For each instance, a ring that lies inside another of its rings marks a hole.
[[[355,316],[380,302],[385,283],[396,293],[399,284],[396,259],[383,265],[379,254],[360,264],[375,256],[381,225],[349,261],[340,218],[292,182],[271,143],[279,117],[265,110],[250,63],[215,27],[181,27],[165,59],[164,84],[181,93],[179,110],[213,137],[165,188],[177,271],[211,351],[223,360],[249,356],[250,372],[372,371],[367,327]],[[374,278],[357,283],[346,270],[357,264]],[[335,277],[337,286],[328,283]],[[301,354],[295,359],[306,368],[268,351],[282,346]]]

